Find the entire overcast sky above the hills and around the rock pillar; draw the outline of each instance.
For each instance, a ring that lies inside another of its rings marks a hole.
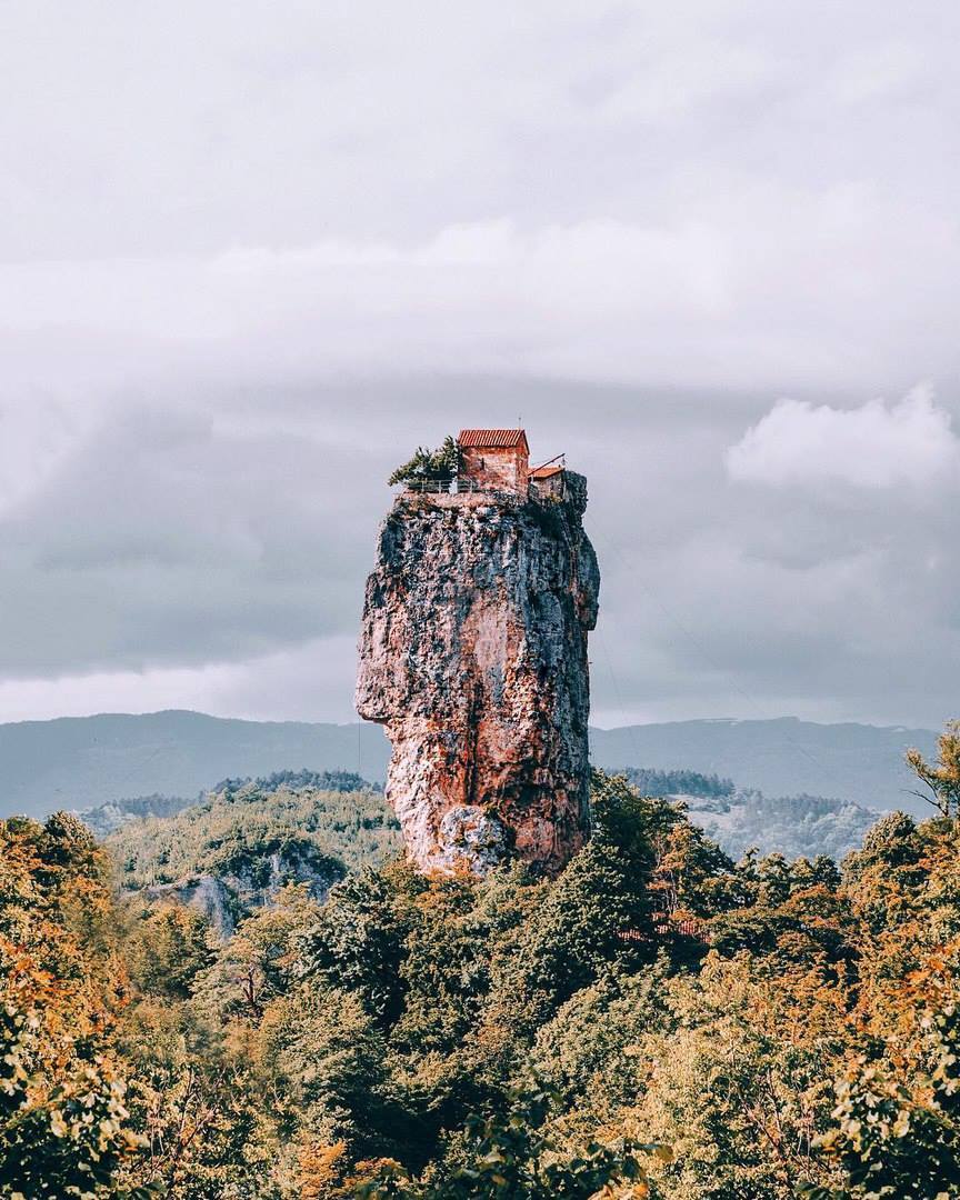
[[[598,724],[960,715],[950,0],[0,6],[0,720],[349,720],[418,443],[590,480]]]

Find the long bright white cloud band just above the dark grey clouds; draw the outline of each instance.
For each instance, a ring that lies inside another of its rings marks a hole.
[[[0,265],[6,386],[80,402],[444,371],[751,389],[955,373],[953,223],[899,228],[869,187],[742,199],[690,220]]]

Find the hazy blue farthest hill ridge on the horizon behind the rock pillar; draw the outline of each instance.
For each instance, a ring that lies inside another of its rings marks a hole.
[[[836,796],[926,816],[907,788],[904,750],[932,754],[936,736],[902,726],[677,721],[592,730],[599,767],[690,769],[768,796]],[[83,809],[130,796],[194,797],[217,780],[277,770],[350,770],[383,780],[378,726],[242,721],[169,710],[0,725],[0,815]]]

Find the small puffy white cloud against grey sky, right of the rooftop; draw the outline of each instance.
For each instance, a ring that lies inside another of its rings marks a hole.
[[[925,487],[958,470],[960,439],[925,385],[893,404],[851,409],[781,400],[730,448],[726,464],[738,482]]]

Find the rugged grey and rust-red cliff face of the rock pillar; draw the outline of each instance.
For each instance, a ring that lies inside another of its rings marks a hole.
[[[403,494],[380,529],[356,708],[386,728],[386,797],[424,870],[557,870],[587,835],[600,576],[586,480],[566,481],[564,502]]]

